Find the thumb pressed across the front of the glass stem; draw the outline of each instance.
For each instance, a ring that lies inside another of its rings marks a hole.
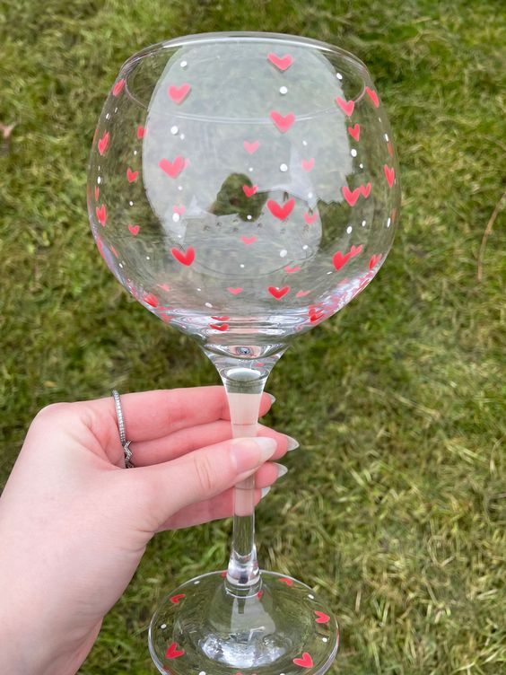
[[[155,531],[180,509],[203,502],[248,478],[275,453],[274,438],[232,438],[188,452],[176,460],[128,469],[136,495],[145,495],[145,513]]]

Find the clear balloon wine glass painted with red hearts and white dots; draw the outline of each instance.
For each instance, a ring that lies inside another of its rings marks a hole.
[[[292,337],[371,282],[397,224],[397,155],[367,68],[314,39],[171,39],[121,67],[93,139],[88,207],[109,269],[196,339],[222,378],[234,436]],[[170,592],[149,647],[160,672],[323,673],[332,611],[259,571],[254,478],[234,489],[228,569]]]

